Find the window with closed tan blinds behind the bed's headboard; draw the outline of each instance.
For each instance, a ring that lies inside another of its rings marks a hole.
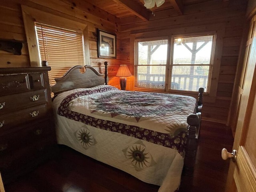
[[[40,60],[46,60],[51,67],[50,85],[72,66],[84,66],[83,34],[74,30],[59,28],[35,22]],[[82,69],[84,70],[84,69]]]

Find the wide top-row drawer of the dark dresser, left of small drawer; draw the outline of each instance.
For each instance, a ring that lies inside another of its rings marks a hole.
[[[0,96],[26,92],[29,89],[28,74],[0,76]]]

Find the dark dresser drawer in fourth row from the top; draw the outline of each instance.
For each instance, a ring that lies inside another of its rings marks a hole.
[[[44,139],[55,140],[56,134],[51,121],[36,122],[0,134],[0,156],[11,151],[35,144]]]

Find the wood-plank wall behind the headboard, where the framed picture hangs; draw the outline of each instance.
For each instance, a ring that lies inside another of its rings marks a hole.
[[[116,17],[99,10],[89,4],[74,3],[71,0],[1,0],[0,1],[0,39],[18,40],[23,42],[22,55],[13,55],[0,50],[0,67],[25,67],[30,66],[28,45],[26,43],[26,34],[22,18],[21,5],[30,6],[56,14],[70,20],[88,24],[89,30],[89,47],[90,47],[90,64],[99,72],[104,73],[104,62],[108,62],[109,84],[119,87],[119,78],[115,77],[118,66],[122,64],[120,58],[120,40],[117,36],[117,58],[105,59],[97,56],[97,29],[106,30],[116,33]],[[98,12],[99,16],[90,14],[90,12]],[[127,89],[130,88],[130,83]]]

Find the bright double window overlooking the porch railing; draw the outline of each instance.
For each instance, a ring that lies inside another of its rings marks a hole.
[[[189,92],[203,87],[208,92],[214,42],[214,34],[136,41],[135,87]]]

